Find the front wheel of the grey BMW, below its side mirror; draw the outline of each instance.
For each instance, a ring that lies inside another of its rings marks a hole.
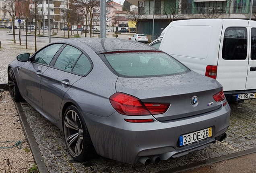
[[[9,87],[9,92],[10,92],[10,97],[12,98],[13,101],[21,101],[21,93],[19,91],[16,78],[14,76],[13,70],[10,68],[8,71],[8,87]]]

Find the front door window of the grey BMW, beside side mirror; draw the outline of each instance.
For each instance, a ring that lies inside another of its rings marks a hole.
[[[52,44],[43,48],[35,55],[34,62],[49,65],[56,52],[63,44]]]

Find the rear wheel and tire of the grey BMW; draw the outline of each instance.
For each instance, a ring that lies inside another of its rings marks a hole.
[[[77,107],[69,106],[63,118],[64,141],[76,161],[85,161],[95,152],[87,125]]]

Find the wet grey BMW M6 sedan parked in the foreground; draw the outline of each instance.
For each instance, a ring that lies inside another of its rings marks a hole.
[[[8,65],[25,99],[64,132],[70,155],[145,165],[208,147],[227,135],[221,84],[147,44],[116,38],[52,42]]]

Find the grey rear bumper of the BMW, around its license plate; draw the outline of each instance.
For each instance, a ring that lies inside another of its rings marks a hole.
[[[227,104],[210,113],[151,123],[128,123],[126,119],[153,119],[152,116],[124,116],[119,113],[103,118],[83,113],[91,140],[101,156],[134,164],[141,156],[159,155],[163,160],[179,157],[208,147],[229,126],[230,107]],[[180,135],[212,127],[213,137],[178,147]]]

